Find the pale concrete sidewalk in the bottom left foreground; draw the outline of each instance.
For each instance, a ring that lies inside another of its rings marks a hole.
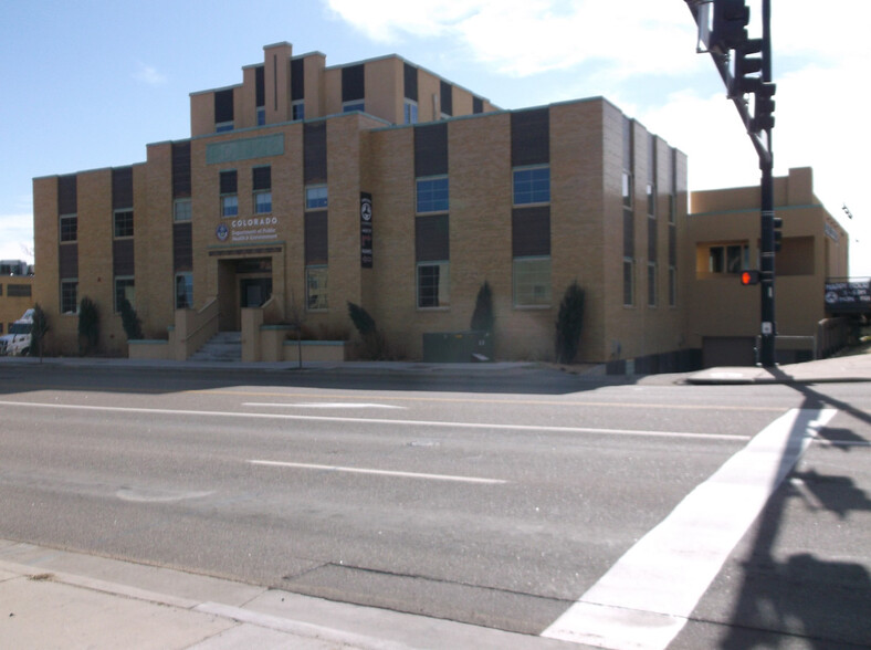
[[[578,646],[0,541],[0,646],[147,649]]]

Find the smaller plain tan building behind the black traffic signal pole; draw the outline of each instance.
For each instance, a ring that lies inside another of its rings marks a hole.
[[[850,238],[814,193],[810,168],[775,178],[775,216],[783,219],[775,258],[778,363],[819,354],[831,325],[827,283],[848,275]],[[689,344],[705,367],[753,365],[760,328],[758,286],[738,274],[759,269],[759,187],[692,193],[684,264],[694,269],[686,298]],[[865,283],[867,284],[867,283]]]

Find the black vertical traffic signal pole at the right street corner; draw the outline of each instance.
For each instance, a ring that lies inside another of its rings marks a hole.
[[[763,0],[763,70],[764,83],[772,81],[772,0]],[[777,322],[775,321],[775,234],[774,234],[774,153],[772,149],[772,128],[765,129],[767,137],[767,155],[759,156],[762,170],[762,260],[760,260],[760,313],[762,332],[759,346],[759,363],[765,368],[777,364],[775,342],[777,337]]]

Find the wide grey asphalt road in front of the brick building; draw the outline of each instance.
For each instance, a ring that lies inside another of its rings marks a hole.
[[[3,367],[0,537],[571,640],[871,643],[868,386],[673,379]],[[745,451],[790,415],[804,455]]]

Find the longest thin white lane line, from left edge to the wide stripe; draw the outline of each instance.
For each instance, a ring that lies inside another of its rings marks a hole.
[[[69,409],[80,411],[104,411],[119,413],[145,413],[160,416],[195,416],[198,418],[242,418],[262,420],[300,420],[306,422],[342,422],[355,424],[392,424],[401,427],[439,427],[448,429],[497,429],[503,431],[548,431],[553,433],[601,433],[604,436],[640,436],[647,438],[689,438],[701,440],[749,440],[749,436],[724,433],[694,433],[690,431],[644,431],[637,429],[601,429],[594,427],[545,427],[538,424],[505,424],[484,422],[449,422],[432,420],[389,420],[384,418],[336,418],[329,416],[292,416],[286,413],[245,413],[232,411],[192,411],[180,409],[143,409],[133,407],[106,407],[63,403],[39,403],[24,401],[0,401],[0,406]]]

